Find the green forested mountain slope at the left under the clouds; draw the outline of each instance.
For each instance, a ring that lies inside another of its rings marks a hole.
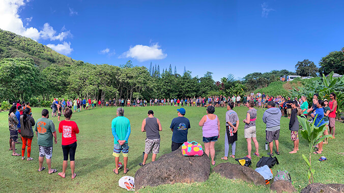
[[[0,60],[4,58],[32,58],[40,69],[51,64],[64,65],[76,62],[31,38],[0,29]]]

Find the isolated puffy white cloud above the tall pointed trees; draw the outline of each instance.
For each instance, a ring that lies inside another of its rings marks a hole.
[[[140,62],[146,60],[160,60],[167,57],[167,54],[162,52],[162,49],[159,49],[160,46],[158,43],[153,44],[151,46],[144,46],[144,45],[136,45],[134,47],[130,47],[127,52],[124,52],[120,58],[134,58]]]

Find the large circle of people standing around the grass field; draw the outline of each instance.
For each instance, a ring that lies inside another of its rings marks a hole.
[[[273,156],[275,152],[277,155],[280,154],[279,152],[279,131],[280,131],[280,119],[282,114],[286,114],[290,119],[289,129],[291,130],[291,140],[293,141],[294,148],[289,153],[296,153],[299,150],[299,122],[297,119],[297,115],[302,115],[303,118],[307,119],[307,115],[309,118],[314,120],[314,124],[316,126],[320,126],[325,124],[326,128],[329,128],[329,133],[332,134],[333,138],[335,136],[335,112],[337,108],[337,101],[335,93],[330,94],[330,101],[327,99],[319,100],[319,95],[316,93],[313,95],[313,104],[311,106],[308,105],[307,98],[305,96],[301,97],[301,100],[295,99],[292,101],[290,97],[288,100],[281,96],[277,97],[269,97],[262,96],[257,94],[256,96],[252,96],[252,93],[249,96],[244,96],[244,105],[248,108],[246,113],[245,119],[243,119],[244,126],[244,138],[247,141],[247,151],[248,155],[246,157],[251,158],[251,151],[252,145],[251,142],[253,141],[255,151],[253,153],[254,156],[260,157],[259,153],[259,143],[256,139],[256,119],[257,119],[257,110],[254,106],[261,106],[264,104],[266,109],[263,114],[263,122],[266,124],[266,142],[269,144],[269,156]],[[240,97],[240,96],[239,96]],[[264,102],[260,101],[259,99],[263,97],[266,99]],[[223,98],[223,100],[221,99]],[[228,97],[229,98],[229,97]],[[215,113],[215,107],[219,106],[226,106],[227,111],[225,113],[225,142],[224,142],[224,157],[222,160],[228,159],[228,151],[230,145],[232,146],[232,155],[229,157],[235,158],[235,151],[236,151],[236,141],[238,140],[238,128],[239,128],[239,117],[238,114],[233,110],[235,107],[235,102],[238,106],[240,106],[240,98],[238,100],[238,96],[233,96],[232,99],[228,101],[228,98],[223,96],[214,96],[208,97],[205,101],[205,97],[195,98],[195,100],[187,99],[186,103],[185,100],[179,101],[182,106],[186,106],[191,102],[193,106],[207,106],[206,108],[206,115],[200,119],[198,125],[202,127],[203,130],[203,142],[205,150],[204,152],[208,157],[211,158],[211,164],[215,165],[215,142],[220,137],[220,120],[218,119]],[[256,98],[258,100],[256,100]],[[227,102],[225,104],[225,99]],[[89,99],[80,100],[75,99],[73,101],[74,112],[77,109],[81,110],[81,105],[84,109],[89,109],[90,107],[95,107],[95,105],[88,105],[90,103]],[[238,101],[237,101],[238,100]],[[74,103],[76,101],[76,103]],[[79,102],[78,102],[79,101]],[[113,100],[114,101],[114,100]],[[145,100],[144,100],[145,101]],[[154,101],[154,102],[152,102]],[[168,101],[168,100],[167,100]],[[220,102],[219,102],[220,101]],[[223,101],[223,102],[221,102]],[[256,101],[256,103],[254,102]],[[84,105],[84,102],[86,104]],[[91,104],[96,104],[92,103]],[[100,101],[101,102],[101,101]],[[123,99],[121,99],[121,103]],[[129,103],[129,101],[127,101]],[[139,101],[140,102],[140,101]],[[159,104],[160,102],[160,104]],[[178,105],[178,99],[171,99],[170,103],[173,105],[175,102]],[[219,102],[219,103],[218,103]],[[262,104],[260,102],[263,102]],[[101,102],[102,103],[102,102]],[[76,104],[76,105],[75,105]],[[106,103],[105,103],[106,104]],[[107,103],[113,104],[111,103]],[[106,106],[108,106],[106,105]],[[161,101],[158,99],[151,99],[150,105],[161,105]],[[164,105],[164,101],[162,102]],[[168,103],[167,103],[168,105]],[[285,107],[284,107],[285,105]],[[75,108],[76,106],[76,108]],[[100,104],[101,106],[101,104]],[[116,106],[116,102],[114,103]],[[122,105],[121,105],[122,106]],[[88,108],[87,108],[88,107]],[[77,124],[74,121],[71,121],[73,110],[71,106],[71,100],[65,101],[64,99],[59,101],[54,99],[52,108],[52,117],[56,116],[56,111],[58,113],[59,121],[61,113],[64,114],[65,120],[60,121],[59,123],[59,132],[62,133],[62,149],[63,149],[63,169],[62,172],[58,173],[61,177],[66,177],[66,169],[68,165],[68,158],[70,160],[70,167],[72,172],[72,178],[75,178],[75,152],[76,152],[76,134],[79,133],[79,129]],[[191,128],[189,120],[185,117],[186,110],[181,107],[177,109],[178,117],[173,119],[170,124],[170,129],[173,132],[171,138],[171,151],[175,151],[180,148],[180,146],[188,140],[188,129]],[[52,146],[53,142],[56,144],[58,139],[56,137],[56,130],[54,123],[49,120],[49,111],[47,109],[43,109],[41,112],[42,117],[38,119],[36,122],[32,117],[32,110],[30,107],[30,103],[13,103],[10,111],[9,111],[9,130],[10,130],[10,149],[12,150],[12,156],[21,156],[21,159],[25,159],[25,148],[27,146],[27,161],[33,160],[31,157],[31,143],[34,137],[34,131],[37,137],[37,144],[39,146],[39,168],[38,171],[41,172],[45,169],[43,167],[44,157],[46,158],[46,164],[48,167],[48,173],[55,173],[57,172],[56,169],[52,169],[51,167],[51,158],[52,158]],[[33,129],[34,127],[34,129]],[[113,156],[115,157],[116,167],[113,169],[113,172],[119,174],[119,168],[117,167],[119,164],[120,153],[122,152],[123,160],[124,160],[124,174],[126,174],[129,169],[127,168],[128,163],[128,153],[129,153],[129,145],[128,139],[130,137],[131,128],[130,128],[130,121],[126,117],[124,117],[124,108],[119,107],[117,108],[117,117],[114,118],[111,122],[111,130],[112,135],[114,138],[114,145],[113,145]],[[153,110],[148,111],[148,117],[142,121],[141,131],[146,132],[146,145],[145,145],[145,154],[144,160],[142,163],[139,163],[140,166],[145,166],[148,155],[152,152],[152,162],[155,161],[157,153],[159,153],[160,148],[160,134],[159,132],[162,131],[162,126],[159,119],[154,117]],[[21,155],[17,153],[15,150],[15,144],[20,143],[18,141],[18,133],[22,140],[22,148],[21,148]],[[324,132],[324,135],[328,134],[328,130]],[[275,142],[276,150],[273,152],[273,142]],[[319,143],[318,149],[314,151],[314,153],[321,154],[323,151],[323,143],[327,143],[327,139],[324,142]]]

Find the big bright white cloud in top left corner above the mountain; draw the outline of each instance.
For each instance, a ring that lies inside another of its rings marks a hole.
[[[40,38],[43,38],[44,40],[50,39],[51,41],[63,41],[68,36],[71,36],[70,31],[63,31],[55,35],[56,31],[49,25],[49,23],[45,23],[43,30],[41,31],[34,27],[27,27],[28,22],[32,21],[32,17],[23,19],[27,22],[24,27],[23,21],[20,19],[18,12],[20,12],[19,8],[25,6],[25,3],[27,2],[28,0],[1,0],[0,28],[12,31],[25,37],[30,37],[35,41],[38,41]]]

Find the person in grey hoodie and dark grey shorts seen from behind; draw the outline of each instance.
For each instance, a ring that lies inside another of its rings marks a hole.
[[[280,121],[282,113],[279,108],[275,108],[276,103],[273,101],[268,102],[268,109],[265,110],[263,114],[263,122],[266,124],[266,141],[269,142],[270,152],[268,156],[273,156],[273,141],[275,141],[276,151],[275,153],[279,155],[278,150],[278,139],[279,139],[279,130],[280,130]]]

